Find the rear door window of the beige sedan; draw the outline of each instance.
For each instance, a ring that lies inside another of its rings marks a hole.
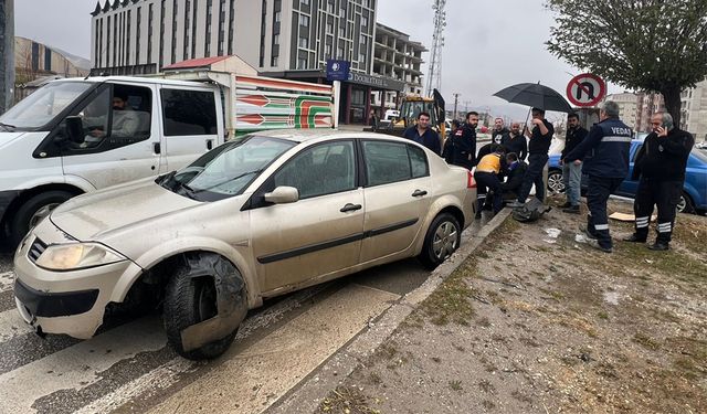
[[[363,141],[368,185],[380,185],[412,178],[408,145]]]

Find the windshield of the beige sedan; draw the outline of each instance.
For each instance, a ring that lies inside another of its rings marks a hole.
[[[201,156],[190,166],[161,179],[160,185],[200,201],[240,194],[267,166],[296,142],[245,136]]]

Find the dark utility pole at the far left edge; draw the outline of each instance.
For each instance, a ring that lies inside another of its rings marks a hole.
[[[0,114],[14,95],[14,0],[0,0]]]

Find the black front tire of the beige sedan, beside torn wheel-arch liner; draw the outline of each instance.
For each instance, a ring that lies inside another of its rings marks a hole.
[[[167,285],[162,315],[167,342],[177,353],[187,359],[214,359],[231,347],[238,333],[238,327],[222,339],[196,350],[184,351],[181,331],[218,314],[214,278],[212,276],[192,277],[193,272],[196,269],[189,265],[182,265]],[[199,270],[199,274],[203,272]]]

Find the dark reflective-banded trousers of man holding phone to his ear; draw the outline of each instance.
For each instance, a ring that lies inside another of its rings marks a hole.
[[[666,181],[642,178],[633,202],[636,216],[636,236],[645,241],[648,236],[648,224],[653,214],[653,205],[658,208],[657,241],[669,243],[675,225],[675,212],[680,200],[683,181]]]

